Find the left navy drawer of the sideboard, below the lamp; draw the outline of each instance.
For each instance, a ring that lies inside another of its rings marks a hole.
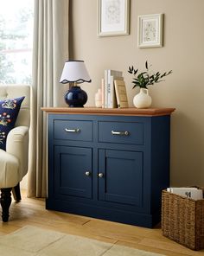
[[[55,119],[54,138],[92,141],[92,121]]]

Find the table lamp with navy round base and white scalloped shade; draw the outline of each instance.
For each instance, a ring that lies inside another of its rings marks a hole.
[[[73,86],[65,93],[65,101],[70,107],[83,107],[87,101],[87,94],[78,84],[92,80],[86,70],[84,61],[66,61],[61,74],[62,84],[73,83]]]

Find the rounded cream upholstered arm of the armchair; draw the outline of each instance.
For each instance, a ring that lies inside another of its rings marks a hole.
[[[13,128],[6,140],[6,151],[19,160],[19,176],[26,175],[29,161],[29,127],[17,126]]]

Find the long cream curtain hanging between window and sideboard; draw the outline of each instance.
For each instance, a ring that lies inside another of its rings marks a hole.
[[[41,106],[64,104],[59,80],[68,58],[68,5],[69,0],[35,0],[29,197],[47,195],[47,118]]]

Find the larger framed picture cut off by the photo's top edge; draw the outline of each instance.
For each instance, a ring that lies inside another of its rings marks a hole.
[[[98,35],[129,35],[130,0],[98,0]]]

